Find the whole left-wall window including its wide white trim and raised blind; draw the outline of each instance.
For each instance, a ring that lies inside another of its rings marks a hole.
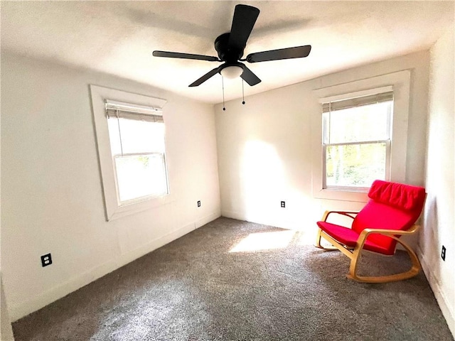
[[[107,221],[173,201],[165,99],[90,85]]]

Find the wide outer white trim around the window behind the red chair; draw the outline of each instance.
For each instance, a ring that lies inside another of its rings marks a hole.
[[[394,93],[392,133],[390,142],[390,180],[405,182],[407,159],[407,124],[410,106],[410,70],[346,82],[313,91],[319,103],[331,102],[349,97],[378,93],[378,90],[392,88]],[[321,105],[321,104],[320,104]],[[324,188],[323,183],[323,140],[322,110],[311,117],[312,149],[312,191],[313,197],[328,200],[365,202],[368,189]]]

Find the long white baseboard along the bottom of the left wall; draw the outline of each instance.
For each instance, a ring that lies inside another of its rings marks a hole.
[[[95,281],[98,278],[101,278],[102,276],[105,276],[106,274],[119,269],[120,267],[134,261],[135,259],[138,259],[139,257],[144,256],[145,254],[148,254],[149,252],[154,251],[155,249],[158,249],[159,247],[162,247],[169,242],[182,237],[188,232],[191,232],[197,227],[215,220],[218,217],[220,217],[219,213],[215,212],[214,214],[208,215],[207,217],[204,217],[197,222],[193,222],[184,227],[176,229],[173,232],[165,234],[164,236],[156,238],[148,244],[134,249],[133,251],[121,254],[117,259],[108,261],[107,263],[90,269],[85,273],[76,276],[75,278],[71,278],[65,283],[50,288],[48,291],[44,291],[29,301],[18,305],[11,305],[9,307],[11,321],[14,322],[20,318],[23,318],[24,316],[33,313],[34,311],[41,309],[60,298],[67,296],[69,293],[82,288],[82,286],[86,286],[88,283],[91,283],[92,281]]]

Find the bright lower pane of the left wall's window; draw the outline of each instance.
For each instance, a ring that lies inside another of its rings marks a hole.
[[[162,154],[116,156],[114,160],[120,202],[168,192]]]

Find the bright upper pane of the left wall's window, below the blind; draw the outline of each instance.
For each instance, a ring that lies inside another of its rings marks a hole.
[[[164,123],[123,118],[109,118],[107,123],[112,155],[122,154],[122,148],[125,154],[164,153]]]

